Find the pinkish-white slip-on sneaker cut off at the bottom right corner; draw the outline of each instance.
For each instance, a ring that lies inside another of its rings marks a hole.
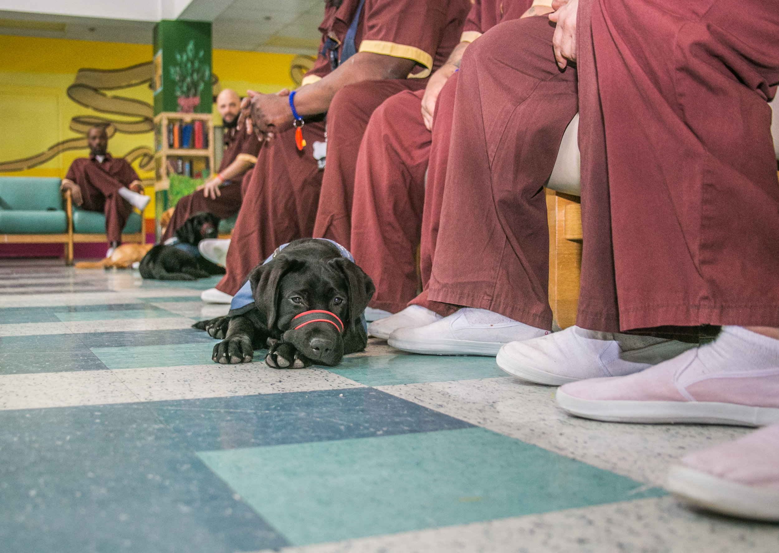
[[[665,488],[704,509],[779,522],[779,424],[683,457]]]

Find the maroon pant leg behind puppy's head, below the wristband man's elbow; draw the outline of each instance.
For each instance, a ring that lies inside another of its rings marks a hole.
[[[364,81],[339,90],[327,111],[327,164],[316,212],[314,238],[329,238],[351,249],[354,171],[373,111],[404,90],[425,88],[426,79]]]

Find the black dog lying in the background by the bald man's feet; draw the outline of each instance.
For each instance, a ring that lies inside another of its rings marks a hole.
[[[219,217],[195,213],[176,230],[175,238],[157,244],[143,256],[141,277],[157,280],[197,280],[224,275],[224,267],[204,259],[197,245],[203,238],[217,238]],[[172,243],[171,243],[172,242]]]

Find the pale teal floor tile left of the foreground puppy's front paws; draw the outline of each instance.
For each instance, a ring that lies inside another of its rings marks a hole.
[[[215,340],[202,343],[176,343],[169,346],[93,347],[92,353],[111,369],[207,365]]]

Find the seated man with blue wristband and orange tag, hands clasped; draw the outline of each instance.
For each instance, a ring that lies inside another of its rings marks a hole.
[[[327,182],[337,185],[340,175],[354,175],[372,111],[401,90],[424,88],[425,77],[456,45],[468,7],[469,0],[326,2],[319,58],[304,86],[292,93],[249,93],[252,127],[269,142],[245,190],[227,274],[203,292],[203,300],[229,303],[249,271],[279,245],[312,236],[323,178],[328,188]],[[325,125],[304,116],[324,112],[328,138],[322,171],[313,150],[315,141],[325,139]]]

